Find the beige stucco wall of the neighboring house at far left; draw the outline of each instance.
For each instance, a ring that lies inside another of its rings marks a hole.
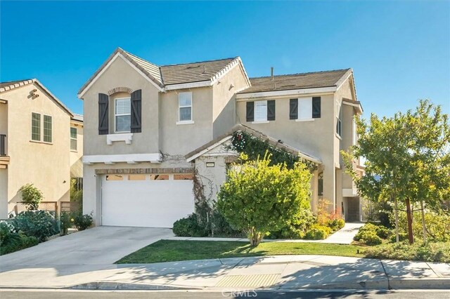
[[[33,89],[38,98],[30,98]],[[29,182],[41,190],[44,201],[68,200],[70,115],[37,84],[6,91],[1,97],[8,100],[8,211],[21,201],[18,190]],[[52,117],[51,144],[31,141],[32,112]]]

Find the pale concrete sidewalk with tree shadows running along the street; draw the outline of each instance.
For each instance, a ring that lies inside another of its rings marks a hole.
[[[450,265],[274,255],[139,265],[1,266],[1,288],[449,288]]]

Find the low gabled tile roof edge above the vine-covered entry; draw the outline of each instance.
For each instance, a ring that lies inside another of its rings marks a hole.
[[[234,132],[236,131],[243,131],[245,133],[249,133],[250,135],[259,138],[260,140],[264,140],[264,142],[269,143],[269,145],[273,145],[274,147],[283,150],[285,152],[289,152],[290,154],[294,154],[295,156],[299,156],[303,159],[307,159],[308,161],[314,162],[316,164],[322,164],[321,160],[316,158],[316,157],[312,157],[309,154],[305,154],[304,152],[301,152],[300,150],[297,150],[295,147],[291,147],[290,145],[286,145],[283,142],[280,142],[280,140],[277,140],[276,138],[272,138],[268,135],[265,135],[262,132],[259,132],[253,128],[250,128],[249,126],[245,126],[243,124],[237,124],[236,126],[233,126],[233,128],[231,128],[231,130],[227,133],[225,133],[224,135],[221,135],[217,138],[215,138],[214,140],[211,140],[210,142],[207,142],[207,144],[198,147],[197,150],[193,150],[192,152],[186,154],[186,156],[184,156],[186,159],[189,159],[193,156],[195,156],[196,154],[200,154],[200,152],[203,152],[204,150],[207,150],[209,147],[212,147],[212,145],[215,145],[217,142],[220,142],[221,140],[223,140],[224,138],[232,135]]]

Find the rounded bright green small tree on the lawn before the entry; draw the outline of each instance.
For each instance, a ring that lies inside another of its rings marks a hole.
[[[302,162],[292,169],[264,159],[234,164],[221,186],[217,208],[226,220],[248,234],[257,246],[271,230],[280,230],[309,208],[311,173]]]

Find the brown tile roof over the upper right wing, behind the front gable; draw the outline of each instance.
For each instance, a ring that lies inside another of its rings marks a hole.
[[[302,74],[285,74],[269,77],[250,78],[252,86],[240,93],[260,93],[264,91],[289,91],[302,88],[320,88],[338,86],[338,82],[352,69],[335,69],[332,71],[310,72]]]

